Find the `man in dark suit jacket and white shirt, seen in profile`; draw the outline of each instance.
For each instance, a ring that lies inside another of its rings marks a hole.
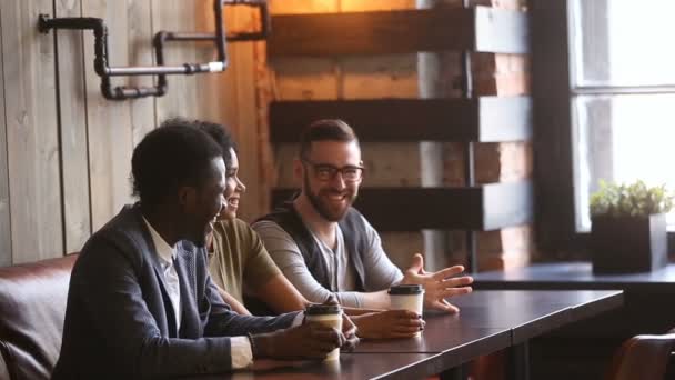
[[[171,120],[133,151],[134,194],[84,244],[68,294],[52,379],[215,373],[254,358],[323,358],[353,341],[303,313],[231,311],[203,249],[225,204],[222,151],[194,122]]]

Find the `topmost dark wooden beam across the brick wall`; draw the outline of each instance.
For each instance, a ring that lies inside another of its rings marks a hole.
[[[271,57],[528,50],[526,14],[486,7],[281,14],[272,30]]]

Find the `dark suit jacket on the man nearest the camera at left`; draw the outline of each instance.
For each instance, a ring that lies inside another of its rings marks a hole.
[[[231,311],[206,252],[178,244],[181,328],[140,207],[125,206],[84,244],[72,271],[61,354],[52,379],[147,379],[231,369],[230,338],[292,324],[296,313]]]

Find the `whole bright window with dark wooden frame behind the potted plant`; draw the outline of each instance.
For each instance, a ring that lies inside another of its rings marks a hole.
[[[675,1],[531,0],[530,10],[540,240],[583,247],[600,179],[675,189]]]

